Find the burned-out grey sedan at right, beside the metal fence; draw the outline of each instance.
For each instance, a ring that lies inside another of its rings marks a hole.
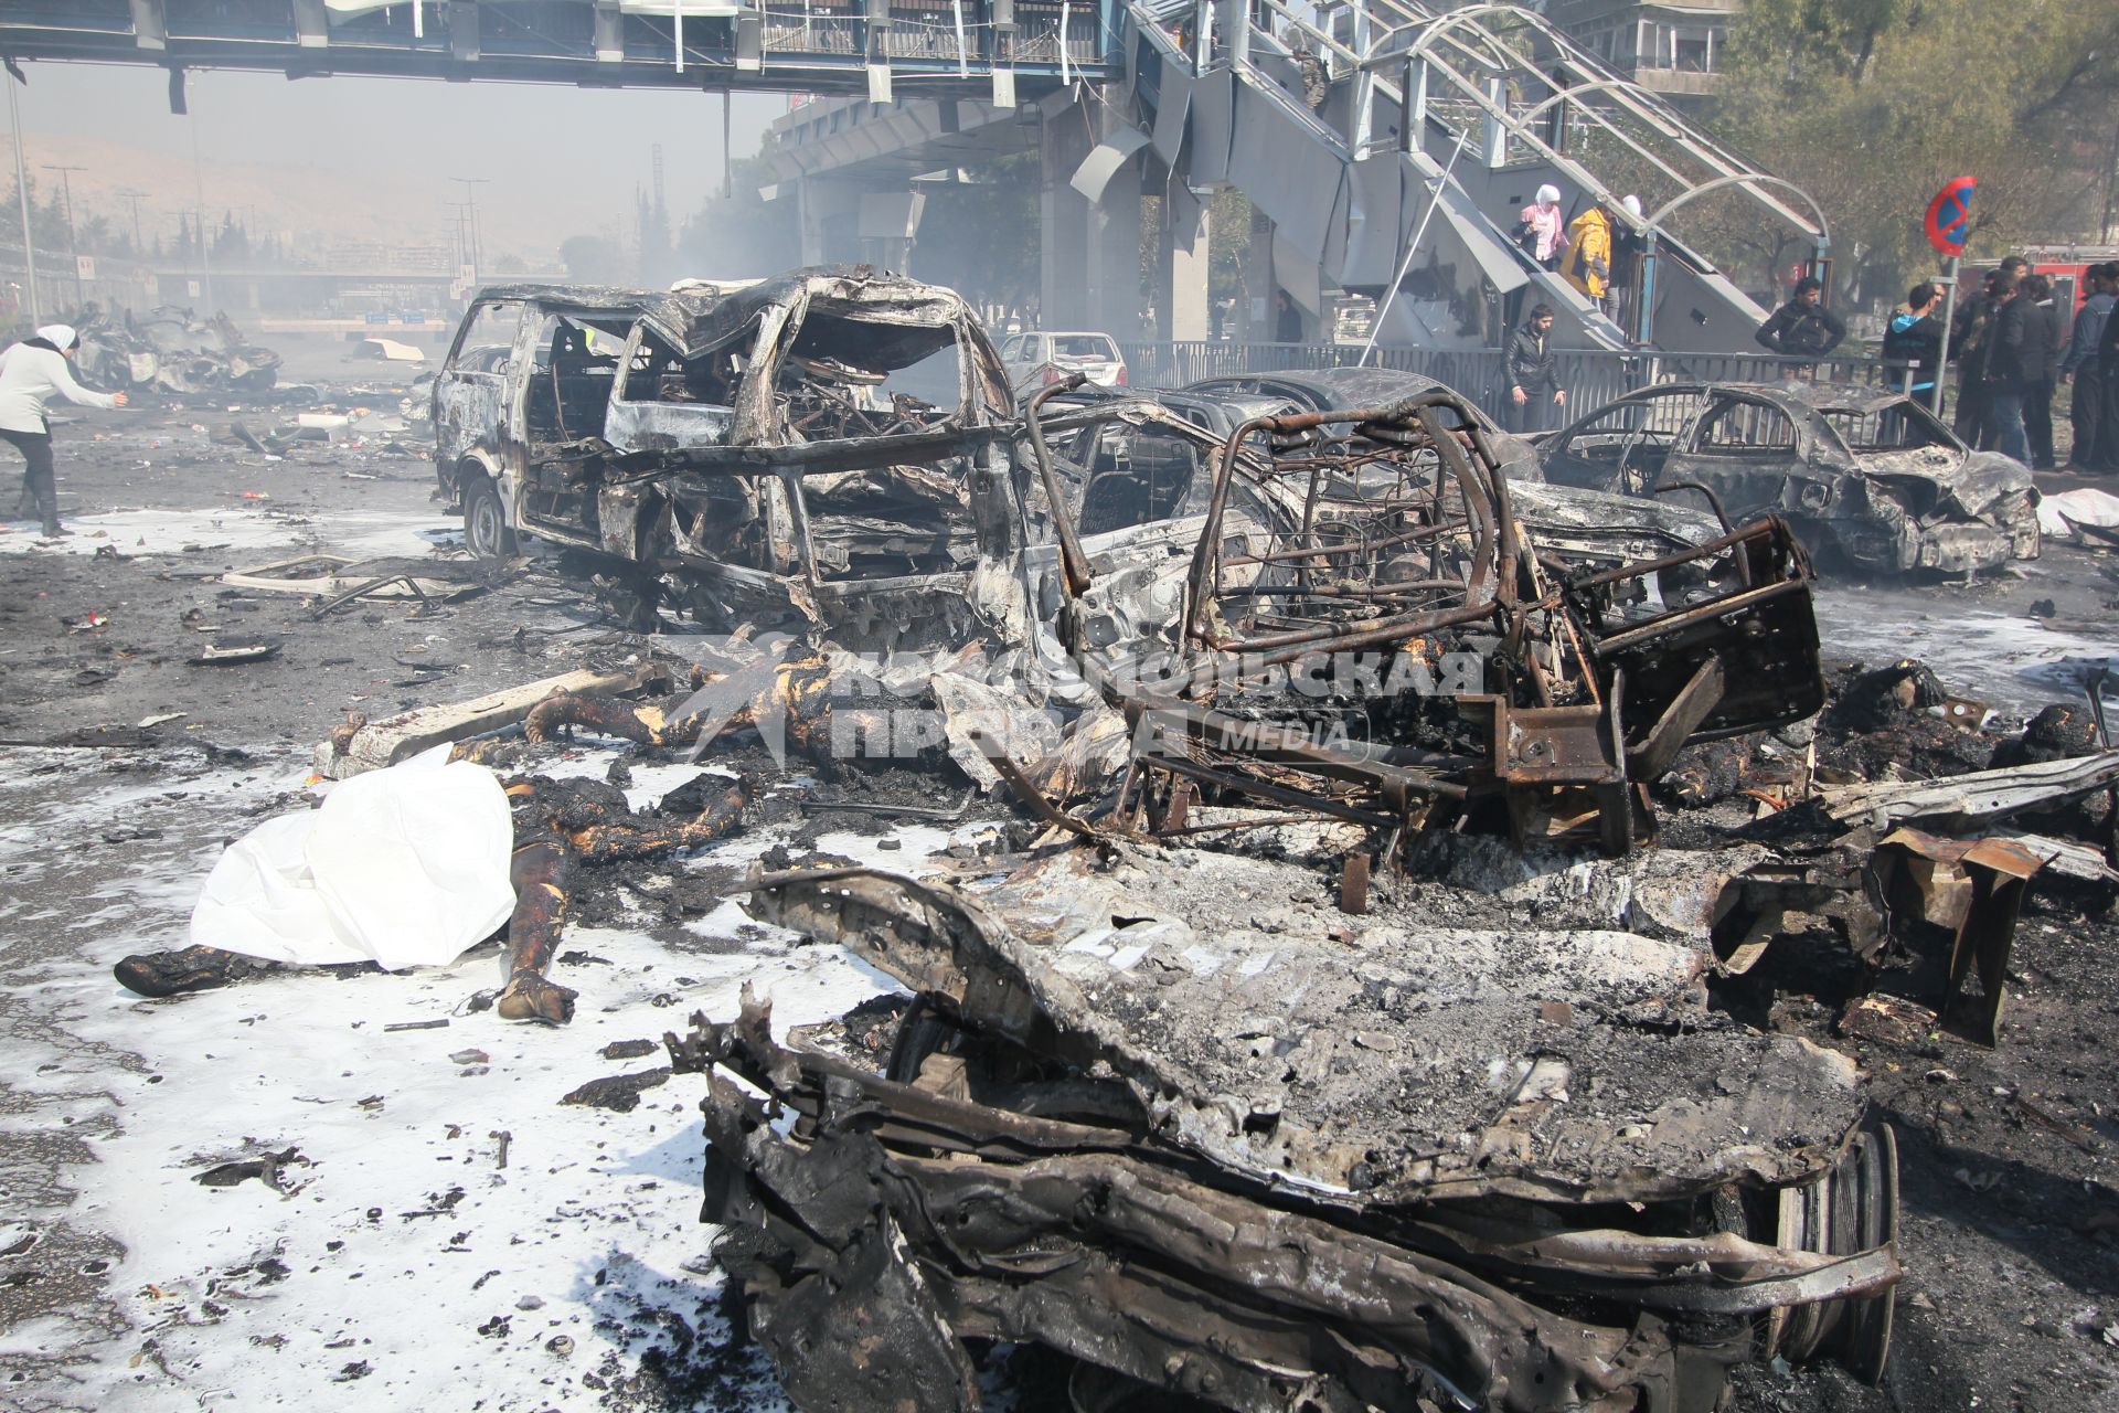
[[[1668,383],[1538,443],[1545,479],[1619,494],[1704,487],[1780,515],[1820,555],[1880,574],[1992,570],[2038,555],[2038,491],[1913,398],[1833,383]]]

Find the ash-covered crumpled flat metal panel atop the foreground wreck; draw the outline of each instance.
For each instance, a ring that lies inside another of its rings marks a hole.
[[[1276,907],[1316,888],[1295,864],[1093,860],[1072,849],[973,894],[786,881],[752,911],[966,1013],[981,974],[1009,977],[996,1025],[1030,1034],[1038,1017],[1057,1055],[1125,1083],[1163,1140],[1324,1199],[1651,1201],[1791,1182],[1829,1165],[1860,1114],[1852,1061],[1710,1019],[1706,947],[1371,919],[1348,951]]]

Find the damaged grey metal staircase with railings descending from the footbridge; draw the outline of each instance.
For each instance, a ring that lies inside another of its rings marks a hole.
[[[1591,347],[1746,350],[1765,309],[1685,242],[1695,199],[1742,203],[1820,256],[1827,246],[1799,189],[1521,6],[1132,0],[1119,38],[1119,110],[1138,127],[1106,144],[1153,146],[1193,186],[1244,191],[1274,220],[1276,278],[1299,301],[1399,284],[1386,343],[1490,343],[1498,307],[1543,301]],[[1297,51],[1326,70],[1314,110]],[[1568,216],[1604,199],[1642,235],[1627,328],[1509,239],[1543,182]],[[1619,210],[1623,195],[1642,199],[1642,218]]]

